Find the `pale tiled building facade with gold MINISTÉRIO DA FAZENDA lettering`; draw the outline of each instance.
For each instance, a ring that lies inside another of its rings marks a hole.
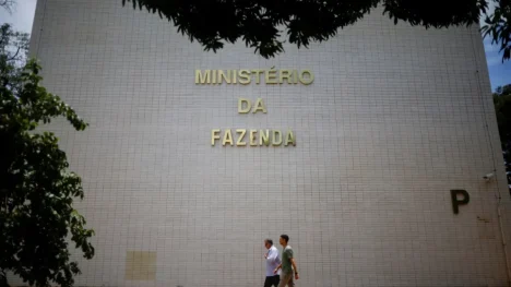
[[[96,231],[76,285],[262,286],[263,240],[287,234],[298,286],[508,286],[511,198],[477,27],[376,10],[285,50],[206,52],[120,0],[38,1],[44,84],[90,123],[48,127]]]

